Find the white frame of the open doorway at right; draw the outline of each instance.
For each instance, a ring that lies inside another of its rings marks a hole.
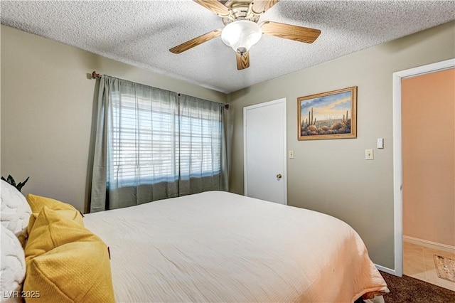
[[[395,270],[392,274],[403,275],[403,196],[402,196],[402,79],[435,73],[455,67],[455,58],[417,68],[393,73],[393,213]]]

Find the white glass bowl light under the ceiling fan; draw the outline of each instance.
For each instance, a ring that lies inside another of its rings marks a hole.
[[[223,28],[221,39],[237,53],[246,53],[262,37],[260,26],[249,20],[237,20]]]

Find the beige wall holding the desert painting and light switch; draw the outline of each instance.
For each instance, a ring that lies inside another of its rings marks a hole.
[[[447,23],[232,93],[233,192],[243,193],[242,107],[287,98],[288,204],[345,220],[373,262],[394,269],[392,73],[455,57],[455,23]],[[356,139],[297,140],[297,98],[358,86]],[[376,149],[376,139],[385,148]],[[375,159],[365,160],[365,149]]]

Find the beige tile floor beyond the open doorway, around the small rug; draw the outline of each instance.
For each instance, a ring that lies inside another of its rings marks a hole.
[[[434,255],[455,260],[455,253],[403,242],[403,273],[407,276],[455,291],[455,282],[438,277]]]

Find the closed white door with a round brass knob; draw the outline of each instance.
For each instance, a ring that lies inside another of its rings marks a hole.
[[[243,108],[245,196],[287,204],[286,99]]]

